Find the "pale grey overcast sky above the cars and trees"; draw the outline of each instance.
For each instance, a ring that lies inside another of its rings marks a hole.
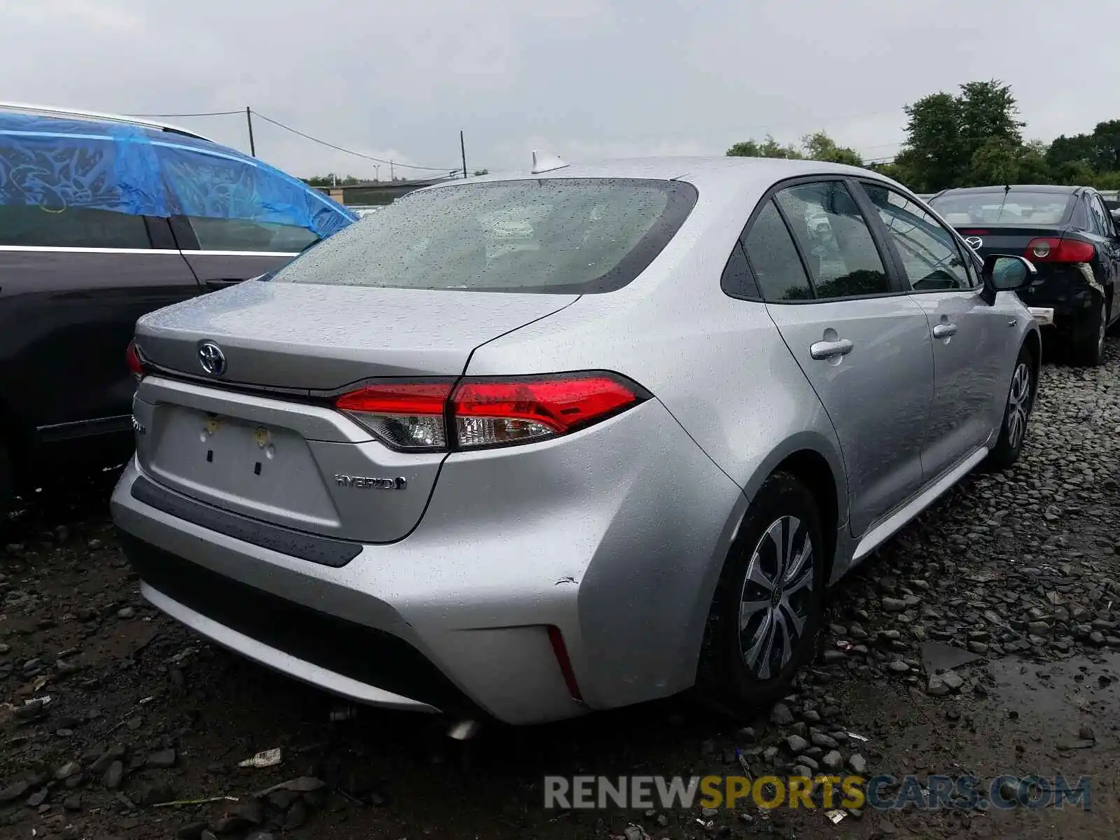
[[[903,104],[972,80],[1012,85],[1028,138],[1120,116],[1117,31],[1107,0],[2,0],[0,96],[116,113],[251,105],[447,168],[460,129],[470,169],[524,169],[534,148],[721,155],[818,129],[885,158]],[[249,150],[243,115],[171,121]],[[295,175],[375,174],[254,129],[258,155]]]

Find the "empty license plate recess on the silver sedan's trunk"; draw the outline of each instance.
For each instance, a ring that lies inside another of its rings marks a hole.
[[[297,432],[166,403],[153,414],[146,468],[168,487],[277,524],[338,529],[311,449]]]

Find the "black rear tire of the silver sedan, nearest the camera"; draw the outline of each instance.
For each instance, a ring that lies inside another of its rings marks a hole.
[[[786,552],[775,550],[781,542],[775,542],[774,538],[784,541],[794,523],[797,524],[790,541],[793,549],[788,553],[794,561],[799,560],[806,541],[812,553],[803,560],[805,571],[786,579],[787,572],[795,570],[786,568],[781,557]],[[778,534],[774,534],[775,528]],[[815,651],[823,612],[824,566],[820,514],[812,494],[794,476],[775,473],[763,483],[752,502],[716,586],[697,673],[697,689],[702,701],[738,713],[769,706],[785,692],[793,675]],[[747,575],[754,571],[753,577],[768,579],[773,594],[778,569],[784,586],[777,590],[777,596],[768,596],[766,588],[754,581],[747,586]],[[750,618],[740,632],[744,605],[748,600],[763,605],[767,598],[769,607],[747,610]],[[785,631],[795,628],[799,619],[803,622],[800,634],[796,637],[792,632],[786,635]],[[773,627],[772,655],[756,655],[748,664],[748,648],[758,652],[758,645],[752,643],[762,642],[762,646],[766,646],[759,631],[767,620]],[[787,659],[783,655],[785,638],[790,641]]]

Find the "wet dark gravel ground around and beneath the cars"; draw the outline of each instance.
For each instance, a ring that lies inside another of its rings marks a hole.
[[[1118,374],[1114,342],[1104,367],[1047,364],[1019,464],[970,476],[849,576],[813,668],[734,725],[676,699],[460,745],[351,710],[149,607],[105,513],[112,475],[39,494],[0,541],[0,836],[1114,837]],[[939,673],[954,653],[976,659]],[[279,765],[237,766],[274,747]],[[736,747],[756,775],[1091,775],[1091,811],[542,808],[545,773],[730,774]],[[220,796],[236,801],[162,804]]]

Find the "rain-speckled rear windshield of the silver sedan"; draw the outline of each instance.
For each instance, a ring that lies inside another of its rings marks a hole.
[[[697,190],[547,178],[412,193],[278,271],[278,283],[587,293],[619,289],[673,237]]]

